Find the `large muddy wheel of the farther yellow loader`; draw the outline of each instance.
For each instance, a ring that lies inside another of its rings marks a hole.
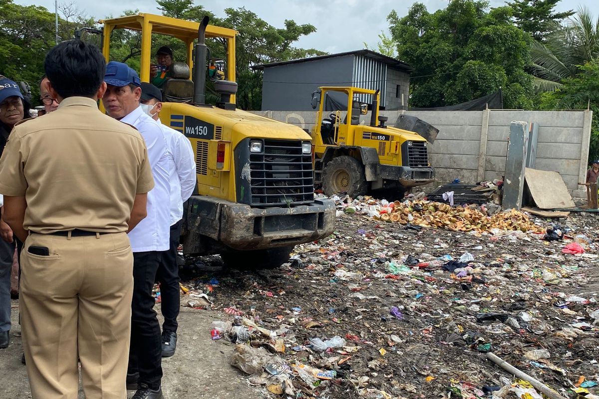
[[[338,193],[347,193],[352,198],[363,196],[368,191],[364,166],[347,155],[333,158],[325,166],[322,188],[329,197]]]

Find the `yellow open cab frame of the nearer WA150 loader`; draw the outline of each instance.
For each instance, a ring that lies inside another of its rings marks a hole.
[[[163,98],[165,101],[192,102],[194,47],[198,39],[200,23],[146,13],[100,20],[99,23],[104,25],[102,53],[106,62],[110,61],[110,38],[116,29],[141,32],[141,70],[139,72],[143,82],[150,82],[150,65],[152,65],[153,50],[156,51],[156,48],[152,48],[152,34],[171,36],[184,42],[187,48],[186,60],[173,62],[173,82],[165,85],[166,87],[162,89]],[[225,60],[209,57],[210,65],[207,68],[210,79],[235,81],[236,34],[237,31],[234,29],[214,25],[206,26],[205,37],[219,38],[225,41],[227,49]],[[212,66],[214,68],[211,68]],[[210,71],[214,73],[210,74]],[[229,101],[235,103],[235,95],[231,95]]]

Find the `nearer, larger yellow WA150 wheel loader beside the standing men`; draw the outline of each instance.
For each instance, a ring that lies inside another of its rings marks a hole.
[[[314,200],[310,136],[235,106],[236,31],[208,25],[208,17],[198,23],[137,14],[101,23],[107,61],[115,29],[141,31],[141,81],[150,79],[152,33],[186,45],[186,61],[173,63],[173,78],[162,87],[160,114],[189,138],[195,154],[198,184],[184,208],[185,254],[220,254],[238,268],[278,267],[296,244],[332,233],[334,203]],[[208,65],[205,38],[226,42],[226,60],[210,58]],[[220,95],[216,106],[205,103],[207,80]]]

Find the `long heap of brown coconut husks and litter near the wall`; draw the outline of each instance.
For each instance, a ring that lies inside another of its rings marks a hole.
[[[498,212],[500,207],[489,203],[477,206],[450,206],[425,200],[388,202],[372,197],[333,197],[337,208],[346,214],[366,214],[374,220],[403,225],[449,229],[456,232],[488,232],[494,229],[544,233],[543,227],[531,222],[526,214],[512,209]],[[489,209],[491,211],[489,212]]]

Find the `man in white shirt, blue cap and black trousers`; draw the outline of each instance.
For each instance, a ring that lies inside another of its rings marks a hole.
[[[160,125],[140,107],[140,78],[126,64],[111,61],[104,77],[108,88],[102,103],[113,118],[131,124],[146,141],[155,187],[148,193],[147,217],[129,232],[133,249],[131,348],[127,388],[135,399],[164,399],[161,388],[160,324],[153,309],[152,288],[162,252],[168,249],[170,209],[169,160]],[[110,167],[107,165],[107,167]]]

